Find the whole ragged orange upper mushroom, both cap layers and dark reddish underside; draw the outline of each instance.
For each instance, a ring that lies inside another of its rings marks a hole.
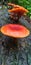
[[[14,13],[13,16],[12,14],[10,15],[10,17],[12,17],[13,19],[15,18],[14,15],[17,14],[18,19],[22,16],[22,15],[26,15],[26,13],[28,13],[29,11],[27,9],[25,9],[22,6],[19,5],[15,5],[12,3],[8,3],[9,6],[13,6],[12,9],[9,9],[8,12],[10,13]],[[16,19],[16,18],[15,18]]]

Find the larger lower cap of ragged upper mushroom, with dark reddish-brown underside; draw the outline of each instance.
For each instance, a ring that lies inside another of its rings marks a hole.
[[[19,19],[22,15],[26,14],[28,11],[23,7],[19,7],[19,8],[13,8],[11,10],[8,10],[8,12],[13,13],[13,15],[11,14],[10,17],[15,18],[17,14],[17,17]]]

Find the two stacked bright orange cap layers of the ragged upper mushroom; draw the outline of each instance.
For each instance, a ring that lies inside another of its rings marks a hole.
[[[24,7],[22,6],[19,6],[19,5],[15,5],[15,4],[12,4],[12,3],[8,3],[9,6],[13,6],[13,9],[11,10],[8,10],[9,12],[21,12],[21,11],[24,11],[25,13],[28,12],[27,9],[25,9]]]

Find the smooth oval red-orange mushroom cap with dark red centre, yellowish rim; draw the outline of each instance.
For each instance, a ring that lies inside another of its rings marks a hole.
[[[1,28],[1,32],[14,38],[23,38],[30,34],[27,28],[17,24],[7,24]]]

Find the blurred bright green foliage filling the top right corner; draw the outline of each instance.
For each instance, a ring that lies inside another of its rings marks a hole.
[[[18,4],[29,11],[28,16],[31,18],[31,0],[18,0]]]

